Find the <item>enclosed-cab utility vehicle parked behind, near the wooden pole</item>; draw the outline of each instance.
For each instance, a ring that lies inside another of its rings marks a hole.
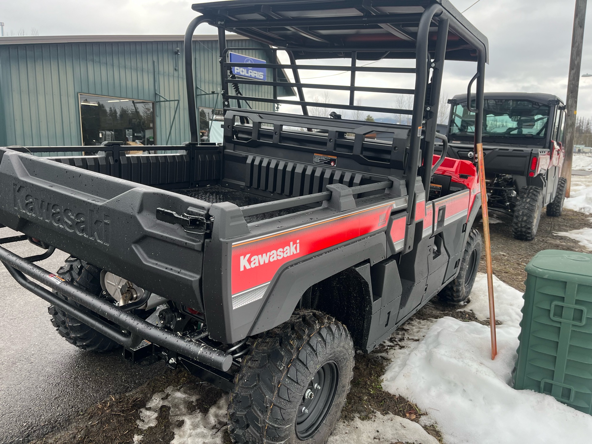
[[[448,155],[457,159],[474,156],[475,95],[471,101],[449,101]],[[533,240],[543,207],[549,216],[563,209],[565,105],[551,94],[487,92],[482,125],[488,207],[513,217],[516,239]]]

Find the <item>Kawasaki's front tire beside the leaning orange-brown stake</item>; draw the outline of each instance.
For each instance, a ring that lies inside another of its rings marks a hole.
[[[481,233],[471,229],[462,254],[458,275],[440,291],[439,298],[446,303],[457,305],[469,301],[469,295],[475,283],[475,276],[481,260]]]

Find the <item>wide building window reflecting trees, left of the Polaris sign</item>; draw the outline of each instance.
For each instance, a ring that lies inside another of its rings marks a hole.
[[[83,146],[123,141],[126,145],[154,145],[154,102],[79,94]]]

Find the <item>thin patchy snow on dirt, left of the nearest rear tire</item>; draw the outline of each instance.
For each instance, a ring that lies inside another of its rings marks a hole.
[[[199,395],[189,387],[168,387],[165,391],[153,395],[146,403],[146,408],[140,409],[138,427],[146,430],[156,426],[159,408],[169,406],[169,420],[175,433],[175,438],[170,444],[221,444],[220,429],[226,425],[228,397],[221,397],[205,415],[194,407],[198,399]],[[181,426],[175,425],[181,421]]]

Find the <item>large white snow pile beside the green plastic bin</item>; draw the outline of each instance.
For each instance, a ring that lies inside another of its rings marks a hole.
[[[398,350],[390,352],[393,362],[382,387],[427,411],[446,443],[588,442],[591,416],[548,395],[510,387],[522,297],[497,279],[495,291],[497,317],[504,322],[497,327],[495,361],[489,327],[445,317],[403,358]],[[487,316],[484,275],[471,297],[475,314]]]

